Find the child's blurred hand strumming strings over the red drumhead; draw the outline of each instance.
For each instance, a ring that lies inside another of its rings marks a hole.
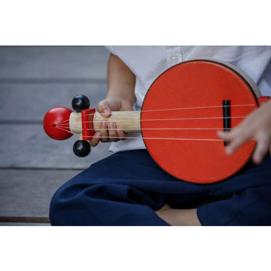
[[[227,154],[232,154],[249,139],[255,139],[257,146],[252,156],[255,164],[262,162],[268,151],[271,153],[271,100],[253,111],[244,121],[230,132],[217,131],[218,137],[229,141]]]

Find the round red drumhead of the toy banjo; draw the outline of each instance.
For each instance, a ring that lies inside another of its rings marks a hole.
[[[257,108],[250,85],[233,69],[194,60],[166,70],[149,88],[141,132],[155,162],[170,175],[194,183],[226,179],[250,159],[253,140],[225,154],[222,101],[230,100],[231,128]]]

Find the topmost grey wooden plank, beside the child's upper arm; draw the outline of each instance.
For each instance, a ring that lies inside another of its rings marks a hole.
[[[106,78],[103,46],[1,46],[0,78]]]

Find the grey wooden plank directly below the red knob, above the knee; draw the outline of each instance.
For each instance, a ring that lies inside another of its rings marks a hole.
[[[112,154],[110,143],[99,143],[87,157],[77,157],[72,147],[78,137],[53,140],[40,124],[0,125],[1,167],[86,169],[92,163]]]

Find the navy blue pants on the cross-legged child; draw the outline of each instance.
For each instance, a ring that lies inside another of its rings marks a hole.
[[[258,166],[249,162],[227,180],[202,185],[170,176],[147,150],[115,153],[56,191],[50,221],[52,225],[168,225],[154,212],[165,203],[177,209],[203,205],[197,208],[202,225],[271,225],[271,158],[266,156]]]

